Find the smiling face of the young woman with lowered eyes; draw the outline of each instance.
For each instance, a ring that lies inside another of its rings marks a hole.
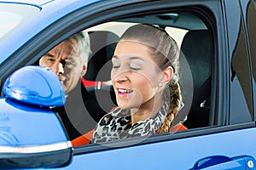
[[[162,74],[140,42],[120,41],[113,54],[111,79],[117,103],[122,109],[154,105]]]

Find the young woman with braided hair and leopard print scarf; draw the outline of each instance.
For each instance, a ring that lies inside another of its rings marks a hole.
[[[167,133],[179,111],[177,43],[157,26],[131,26],[113,54],[119,105],[97,124],[92,143]]]

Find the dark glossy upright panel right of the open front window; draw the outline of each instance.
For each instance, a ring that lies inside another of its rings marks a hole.
[[[247,1],[249,2],[249,1]],[[226,13],[228,15],[232,14],[236,16],[236,20],[227,20],[228,27],[232,28],[232,31],[237,32],[239,37],[237,41],[233,41],[230,36],[230,90],[233,97],[230,98],[230,105],[234,105],[230,108],[230,123],[236,124],[240,122],[252,122],[253,121],[253,88],[252,88],[252,78],[249,51],[247,47],[247,37],[246,31],[249,31],[249,41],[252,41],[252,27],[249,26],[252,23],[250,20],[253,16],[253,2],[251,3],[241,3],[241,12],[234,13],[230,8],[227,9]],[[232,3],[229,5],[234,5],[239,7],[240,4]],[[241,16],[244,15],[245,19],[242,20]],[[247,21],[246,21],[247,20]],[[247,22],[247,26],[244,23]],[[252,50],[253,52],[253,50]],[[242,54],[242,55],[241,55]],[[252,53],[253,54],[253,53]],[[252,59],[253,61],[253,59]],[[238,97],[241,96],[241,97]],[[240,105],[238,105],[240,104]]]

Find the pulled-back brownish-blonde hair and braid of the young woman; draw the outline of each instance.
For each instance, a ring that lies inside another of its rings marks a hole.
[[[158,26],[139,24],[131,26],[120,37],[119,41],[132,40],[148,45],[149,52],[155,63],[164,71],[172,66],[173,75],[166,85],[170,92],[170,107],[162,126],[155,133],[167,133],[170,130],[174,117],[179,110],[182,96],[179,86],[179,48],[177,42],[164,29]]]

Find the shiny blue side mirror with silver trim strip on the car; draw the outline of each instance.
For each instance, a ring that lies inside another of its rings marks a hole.
[[[0,99],[0,168],[60,167],[72,157],[58,116],[50,107],[65,103],[53,71],[26,66],[3,84]]]

